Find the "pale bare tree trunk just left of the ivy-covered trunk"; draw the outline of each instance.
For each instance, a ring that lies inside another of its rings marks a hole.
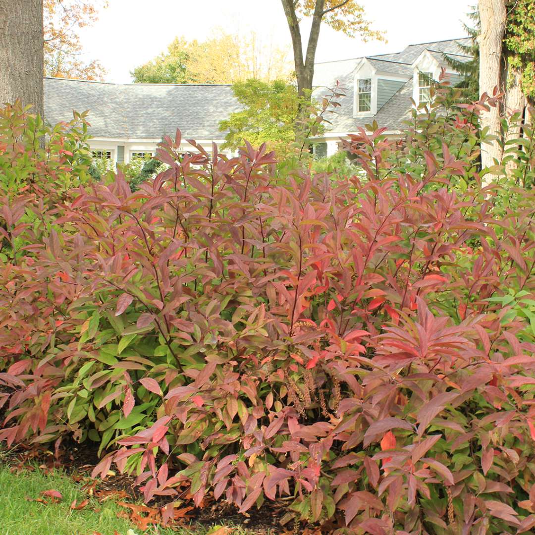
[[[495,87],[500,88],[500,60],[503,34],[505,32],[505,0],[479,0],[481,32],[479,34],[479,93],[492,96]],[[488,126],[489,134],[500,133],[500,108],[491,108],[481,118],[482,128]],[[500,160],[498,143],[482,143],[481,161],[483,167],[494,165],[494,158]]]

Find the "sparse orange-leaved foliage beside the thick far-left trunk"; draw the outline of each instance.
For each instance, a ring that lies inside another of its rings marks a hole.
[[[57,78],[102,80],[104,68],[97,60],[81,59],[78,30],[97,20],[106,0],[43,0],[44,74]]]

